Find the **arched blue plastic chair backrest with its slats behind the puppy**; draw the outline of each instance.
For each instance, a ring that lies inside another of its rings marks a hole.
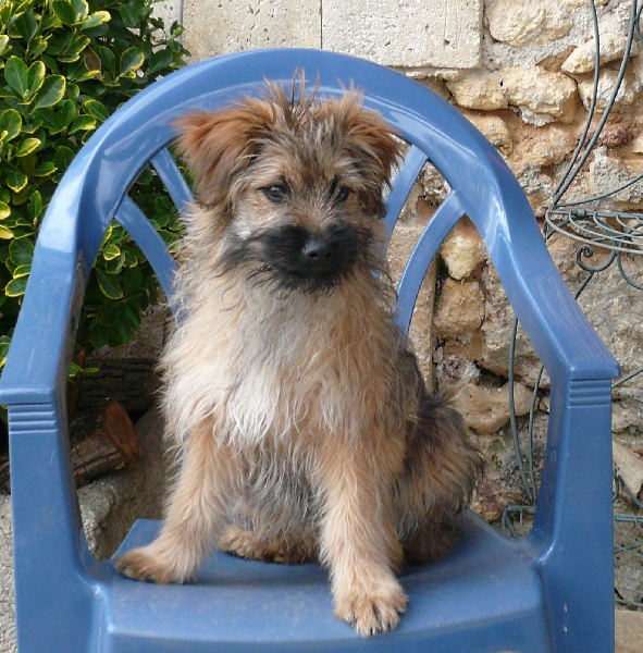
[[[39,247],[76,251],[79,270],[86,276],[104,231],[115,218],[135,237],[170,293],[173,262],[126,196],[127,189],[149,162],[181,209],[190,193],[166,150],[175,136],[172,122],[188,110],[214,109],[256,94],[265,78],[288,84],[297,69],[305,70],[308,79],[319,79],[320,91],[326,95],[337,95],[355,83],[364,91],[367,106],[380,111],[411,145],[388,198],[389,231],[426,160],[453,189],[418,243],[398,288],[403,329],[408,328],[428,263],[456,221],[467,214],[484,239],[518,318],[554,374],[567,348],[542,342],[543,334],[548,340],[546,330],[543,324],[534,329],[531,323],[539,319],[537,307],[543,301],[571,311],[568,317],[572,322],[578,309],[566,300],[567,289],[554,266],[542,266],[545,246],[533,212],[502,157],[436,94],[398,73],[343,54],[312,50],[244,52],[193,64],[147,88],[122,107],[76,157],[51,201]],[[103,174],[106,167],[109,175]],[[75,270],[60,273],[73,275]],[[537,279],[535,294],[524,279]],[[588,330],[584,320],[578,323]],[[586,358],[581,352],[572,354],[577,355],[580,359],[573,361],[574,368],[582,367]]]

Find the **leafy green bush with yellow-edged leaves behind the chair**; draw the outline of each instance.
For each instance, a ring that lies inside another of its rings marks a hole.
[[[0,0],[0,366],[38,226],[72,158],[122,102],[184,65],[182,28],[152,17],[154,1]],[[131,195],[173,243],[181,225],[156,174],[146,170]],[[156,288],[151,268],[113,224],[87,288],[78,344],[128,342]]]

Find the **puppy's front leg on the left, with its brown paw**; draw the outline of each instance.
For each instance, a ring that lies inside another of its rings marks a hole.
[[[159,583],[191,580],[217,543],[225,519],[225,500],[237,480],[235,457],[203,422],[185,444],[185,459],[158,538],[116,560],[128,578]]]

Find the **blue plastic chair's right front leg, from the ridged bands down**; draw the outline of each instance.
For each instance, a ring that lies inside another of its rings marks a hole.
[[[553,382],[548,459],[533,538],[551,636],[559,651],[614,650],[614,516],[609,381]],[[579,508],[581,504],[584,506]],[[589,507],[588,507],[589,506]]]

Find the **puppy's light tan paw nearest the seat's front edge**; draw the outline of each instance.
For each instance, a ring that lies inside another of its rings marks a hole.
[[[407,602],[397,580],[391,579],[372,589],[359,588],[338,594],[335,615],[348,621],[362,637],[370,637],[395,628]]]

